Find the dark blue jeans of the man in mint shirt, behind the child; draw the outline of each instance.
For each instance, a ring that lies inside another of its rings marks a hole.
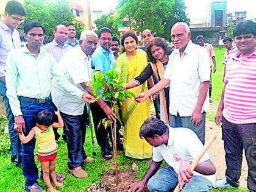
[[[51,102],[46,101],[44,103],[25,101],[20,98],[21,112],[26,125],[24,135],[27,136],[30,130],[35,127],[35,115],[41,110],[49,110],[54,114]],[[34,160],[35,138],[29,141],[29,143],[22,144],[22,168],[23,175],[26,177],[26,186],[30,186],[37,182],[38,169]]]

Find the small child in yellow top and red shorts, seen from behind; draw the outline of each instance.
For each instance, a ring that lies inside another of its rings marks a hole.
[[[43,169],[43,180],[51,192],[58,191],[52,187],[49,175],[51,176],[54,185],[57,187],[64,187],[63,183],[57,182],[55,175],[55,158],[57,156],[58,147],[52,130],[52,127],[59,128],[63,127],[64,124],[59,110],[55,112],[55,114],[58,117],[58,123],[54,123],[54,115],[49,112],[49,110],[42,110],[41,112],[38,112],[35,116],[36,126],[30,130],[26,137],[22,131],[19,134],[20,140],[23,144],[28,143],[34,137],[37,139],[38,161],[41,162],[41,167]]]

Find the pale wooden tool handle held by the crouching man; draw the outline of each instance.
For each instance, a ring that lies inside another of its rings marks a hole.
[[[194,168],[196,168],[197,163],[199,163],[200,159],[202,158],[202,156],[205,154],[205,152],[207,151],[207,149],[210,147],[210,145],[213,143],[213,141],[216,139],[216,135],[211,135],[210,138],[207,140],[207,142],[205,143],[205,145],[203,146],[203,148],[201,149],[201,151],[199,151],[199,154],[197,154],[196,158],[193,160],[193,162],[191,163],[191,169],[192,171],[194,171]],[[180,187],[179,184],[176,186],[174,192],[179,192],[180,191]]]

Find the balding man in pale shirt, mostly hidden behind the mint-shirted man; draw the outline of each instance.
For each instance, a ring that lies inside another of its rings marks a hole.
[[[59,24],[55,27],[54,40],[43,46],[43,49],[52,54],[55,60],[59,63],[60,58],[72,47],[65,43],[68,39],[68,29],[63,24]]]

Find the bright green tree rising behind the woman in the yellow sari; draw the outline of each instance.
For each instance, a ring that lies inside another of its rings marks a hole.
[[[123,4],[123,6],[121,6]],[[151,29],[157,34],[164,30],[163,21],[168,18],[174,0],[121,0],[118,17],[127,18],[133,30]]]

